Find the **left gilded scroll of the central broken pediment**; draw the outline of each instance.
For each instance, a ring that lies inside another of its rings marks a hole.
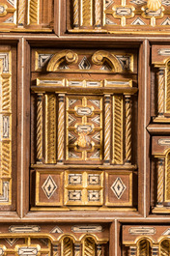
[[[71,50],[63,50],[56,53],[49,61],[46,71],[57,71],[60,64],[66,61],[67,64],[77,63],[78,56]]]

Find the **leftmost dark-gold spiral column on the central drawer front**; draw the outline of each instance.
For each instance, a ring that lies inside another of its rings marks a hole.
[[[42,163],[42,94],[37,95],[37,163]]]

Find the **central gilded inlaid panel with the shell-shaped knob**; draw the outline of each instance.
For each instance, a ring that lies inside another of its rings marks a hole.
[[[67,159],[97,161],[102,150],[102,99],[67,98]]]

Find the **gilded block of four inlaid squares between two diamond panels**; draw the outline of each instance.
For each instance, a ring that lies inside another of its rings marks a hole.
[[[71,205],[101,205],[103,173],[96,172],[66,172],[65,174],[65,204]]]

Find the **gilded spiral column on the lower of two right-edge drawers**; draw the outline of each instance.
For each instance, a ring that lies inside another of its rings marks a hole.
[[[157,160],[157,204],[163,203],[164,158]]]

